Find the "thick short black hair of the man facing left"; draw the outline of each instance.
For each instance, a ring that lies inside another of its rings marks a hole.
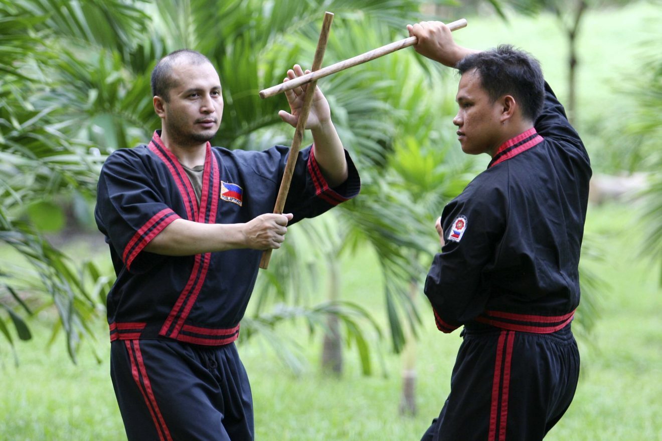
[[[522,116],[535,121],[545,95],[545,79],[540,62],[528,52],[501,44],[496,48],[470,54],[455,66],[459,73],[475,69],[481,76],[481,85],[495,101],[512,95],[522,104]]]

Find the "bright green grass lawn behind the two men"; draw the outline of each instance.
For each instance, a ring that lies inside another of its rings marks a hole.
[[[616,105],[611,85],[636,74],[632,63],[623,60],[636,59],[632,48],[647,39],[654,17],[660,18],[659,7],[645,3],[587,16],[581,55],[593,76],[581,75],[581,106],[604,110]],[[493,40],[486,40],[487,34]],[[457,38],[477,48],[513,42],[530,50],[542,60],[548,77],[555,78],[555,89],[563,99],[564,71],[557,60],[563,60],[558,52],[565,51],[565,46],[549,17],[514,19],[510,25],[496,19],[470,19]],[[600,146],[588,147],[591,151]],[[633,227],[636,218],[636,207],[630,204],[589,210],[587,231],[603,233],[606,245],[604,262],[593,269],[610,289],[601,293],[600,319],[591,340],[580,341],[582,374],[575,401],[547,440],[662,440],[662,292],[659,267],[637,254],[643,238]],[[431,240],[433,233],[431,228]],[[105,248],[102,252],[106,253]],[[364,253],[342,264],[345,298],[372,305],[383,321],[374,256]],[[373,351],[373,376],[362,376],[357,356],[347,350],[346,370],[338,379],[320,374],[321,336],[310,338],[301,332],[302,327],[281,330],[301,345],[308,361],[299,376],[283,366],[259,338],[240,340],[240,354],[252,382],[257,439],[418,440],[448,394],[461,342],[458,331],[451,335],[436,331],[423,296],[418,304],[424,325],[416,342],[416,417],[399,416],[402,358],[389,352],[386,341],[381,350]],[[6,342],[0,340],[0,440],[125,439],[108,374],[105,323],[99,323],[94,343],[101,362],[84,348],[76,365],[71,364],[62,339],[50,350],[45,348],[48,331],[40,325],[40,317],[31,327],[35,339],[17,343],[18,366]]]

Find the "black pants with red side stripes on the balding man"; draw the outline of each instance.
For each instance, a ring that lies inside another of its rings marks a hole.
[[[251,441],[253,402],[234,343],[111,343],[111,378],[129,441]]]

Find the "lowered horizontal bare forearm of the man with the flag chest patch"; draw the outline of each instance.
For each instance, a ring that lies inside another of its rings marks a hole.
[[[166,256],[189,256],[246,248],[242,223],[199,223],[177,219],[163,229],[145,251]]]

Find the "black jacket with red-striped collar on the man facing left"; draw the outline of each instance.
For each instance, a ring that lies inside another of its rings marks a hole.
[[[572,320],[590,178],[587,151],[545,84],[534,128],[499,147],[444,208],[446,245],[425,284],[440,331],[551,333]]]

